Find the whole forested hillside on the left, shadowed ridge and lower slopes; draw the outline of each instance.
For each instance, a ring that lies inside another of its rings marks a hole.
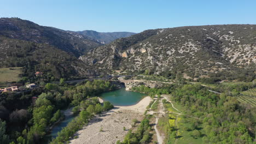
[[[18,18],[0,19],[0,68],[23,67],[22,76],[31,78],[36,71],[51,80],[97,75],[78,56],[99,45],[78,33]]]

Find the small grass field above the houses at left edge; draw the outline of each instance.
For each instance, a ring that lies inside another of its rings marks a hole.
[[[7,82],[19,81],[21,69],[22,67],[0,68],[0,87],[5,87]]]

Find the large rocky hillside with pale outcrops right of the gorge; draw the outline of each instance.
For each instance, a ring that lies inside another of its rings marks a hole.
[[[151,29],[97,47],[80,59],[105,71],[255,79],[255,39],[256,25]]]

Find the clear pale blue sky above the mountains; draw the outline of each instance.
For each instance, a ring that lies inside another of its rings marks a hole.
[[[0,0],[0,17],[70,31],[256,24],[256,0]]]

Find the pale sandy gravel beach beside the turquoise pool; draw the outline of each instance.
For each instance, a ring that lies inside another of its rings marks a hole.
[[[151,100],[150,97],[145,97],[136,105],[115,106],[114,109],[95,116],[88,126],[75,134],[78,138],[71,140],[71,143],[112,144],[117,143],[118,140],[122,141],[131,128],[132,119],[136,118],[141,121]],[[101,128],[102,131],[100,131]]]

